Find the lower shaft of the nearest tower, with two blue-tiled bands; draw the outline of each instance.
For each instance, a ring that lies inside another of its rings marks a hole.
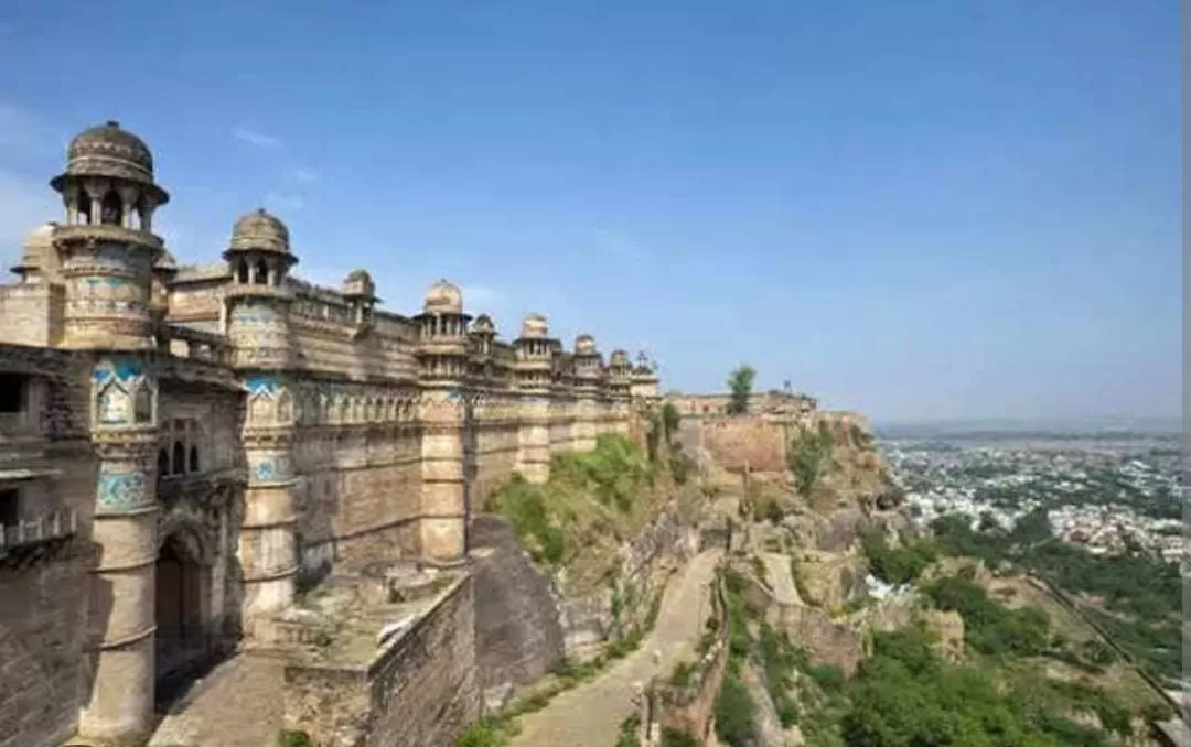
[[[126,356],[100,360],[91,387],[99,478],[88,620],[96,653],[79,730],[131,743],[154,716],[156,385],[144,362]]]

